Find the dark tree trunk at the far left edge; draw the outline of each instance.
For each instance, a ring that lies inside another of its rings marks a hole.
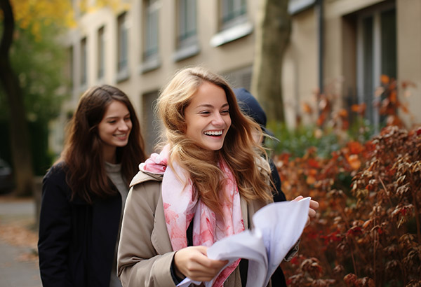
[[[15,22],[9,0],[0,0],[3,10],[4,26],[0,42],[0,80],[6,92],[9,106],[9,126],[13,173],[15,174],[15,194],[32,195],[34,172],[32,171],[32,153],[29,144],[29,131],[22,99],[19,79],[13,72],[10,60],[10,48],[13,41]]]

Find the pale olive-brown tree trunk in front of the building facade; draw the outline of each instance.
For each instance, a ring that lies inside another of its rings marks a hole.
[[[257,17],[251,92],[259,99],[268,120],[284,121],[281,80],[291,28],[288,0],[260,1]]]

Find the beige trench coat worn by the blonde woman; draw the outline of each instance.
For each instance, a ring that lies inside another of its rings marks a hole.
[[[162,176],[138,172],[131,182],[119,241],[118,275],[123,287],[175,287],[171,276],[174,251],[163,215]],[[247,204],[241,199],[244,226],[267,202]],[[271,284],[269,283],[269,286]],[[225,287],[241,287],[239,267]]]

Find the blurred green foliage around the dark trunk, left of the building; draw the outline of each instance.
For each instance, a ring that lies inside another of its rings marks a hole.
[[[0,24],[1,27],[1,24]],[[45,174],[51,165],[48,154],[48,123],[60,113],[62,100],[66,95],[65,51],[57,42],[59,33],[54,25],[38,25],[38,34],[33,34],[30,26],[22,29],[15,26],[15,36],[11,47],[11,64],[18,75],[25,104],[26,118],[32,150],[32,162],[36,175]],[[41,36],[40,36],[41,35]],[[8,126],[14,120],[9,113],[5,91],[0,88],[0,123]],[[6,132],[6,131],[5,131]],[[8,137],[8,133],[5,133]],[[11,162],[8,143],[1,144],[2,157]]]

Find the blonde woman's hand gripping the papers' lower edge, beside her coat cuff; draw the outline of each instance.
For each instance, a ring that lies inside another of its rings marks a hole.
[[[174,255],[175,273],[180,278],[189,277],[194,281],[210,281],[228,260],[212,260],[206,255],[205,246],[189,246]]]

